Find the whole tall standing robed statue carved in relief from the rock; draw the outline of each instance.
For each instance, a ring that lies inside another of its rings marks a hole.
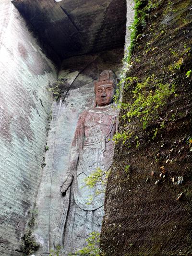
[[[95,106],[85,110],[77,122],[69,167],[61,187],[65,203],[55,240],[55,246],[64,247],[65,253],[84,248],[88,235],[101,230],[105,195],[96,191],[102,190],[103,185],[96,183],[94,188],[88,188],[84,179],[97,168],[108,171],[112,163],[112,138],[118,126],[118,110],[113,105],[115,85],[115,74],[103,71],[95,82]]]

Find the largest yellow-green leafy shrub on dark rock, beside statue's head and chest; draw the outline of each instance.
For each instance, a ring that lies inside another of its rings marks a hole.
[[[123,144],[126,142],[130,146],[129,141],[133,137],[132,125],[136,121],[139,120],[143,130],[151,123],[158,123],[159,129],[163,128],[162,110],[170,95],[174,94],[175,84],[163,84],[154,74],[142,82],[139,82],[138,77],[127,77],[124,90],[131,91],[131,101],[121,102],[121,108],[125,110],[121,118],[126,121],[124,126],[127,129],[123,133],[115,134],[114,140],[116,142],[121,140]],[[177,95],[175,94],[175,96]],[[156,128],[154,132],[153,138],[158,129]],[[137,138],[135,137],[135,139]],[[139,146],[138,140],[136,146]]]

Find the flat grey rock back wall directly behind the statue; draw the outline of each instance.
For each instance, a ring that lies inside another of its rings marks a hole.
[[[43,238],[37,255],[54,248],[65,197],[60,185],[68,168],[69,153],[78,116],[94,105],[94,83],[106,68],[119,77],[123,49],[98,54],[76,56],[62,63],[59,77],[65,77],[63,102],[54,102],[53,119],[48,134],[49,150],[46,152],[46,167],[38,191],[36,226],[34,232]]]

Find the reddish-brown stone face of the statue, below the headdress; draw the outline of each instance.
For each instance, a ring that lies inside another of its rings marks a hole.
[[[112,85],[100,85],[96,87],[96,104],[105,106],[113,102],[114,88]]]

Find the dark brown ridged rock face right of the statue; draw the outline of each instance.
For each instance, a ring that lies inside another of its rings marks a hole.
[[[154,122],[137,132],[141,126],[137,119],[131,132],[140,146],[135,140],[131,147],[116,146],[101,236],[108,256],[192,254],[192,76],[186,76],[192,70],[192,3],[159,3],[137,38],[132,68],[126,76],[144,82],[154,74],[164,84],[175,83],[176,95],[162,109],[165,122],[161,129]],[[130,83],[124,90],[125,103],[132,102],[134,87],[135,83]],[[122,118],[127,112],[121,111],[120,132],[128,127]],[[152,139],[156,128],[160,130]],[[175,183],[180,176],[183,183]]]

